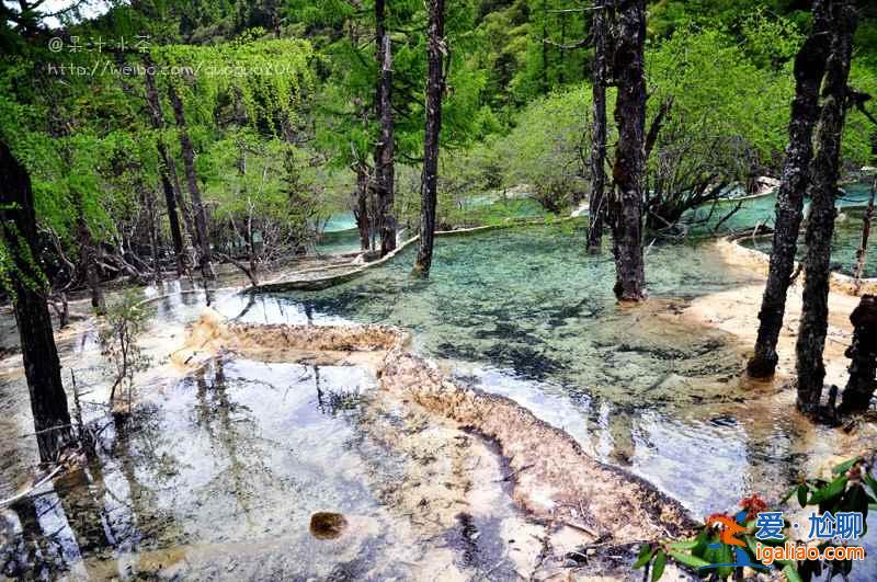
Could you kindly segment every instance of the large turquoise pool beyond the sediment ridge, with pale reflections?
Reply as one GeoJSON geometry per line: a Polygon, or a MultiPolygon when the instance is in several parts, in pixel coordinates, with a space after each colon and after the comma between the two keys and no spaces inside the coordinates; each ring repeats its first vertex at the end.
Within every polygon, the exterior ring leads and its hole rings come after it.
{"type": "MultiPolygon", "coordinates": [[[[584,252],[581,226],[440,238],[428,281],[410,276],[412,263],[408,249],[331,289],[262,295],[242,319],[400,326],[462,381],[519,400],[696,514],[752,491],[778,495],[806,470],[810,429],[782,408],[753,414],[741,346],[679,317],[692,298],[755,282],[709,243],[650,247],[643,309],[616,306],[611,253],[584,252]]],[[[216,306],[235,317],[246,304],[216,306]]]]}

